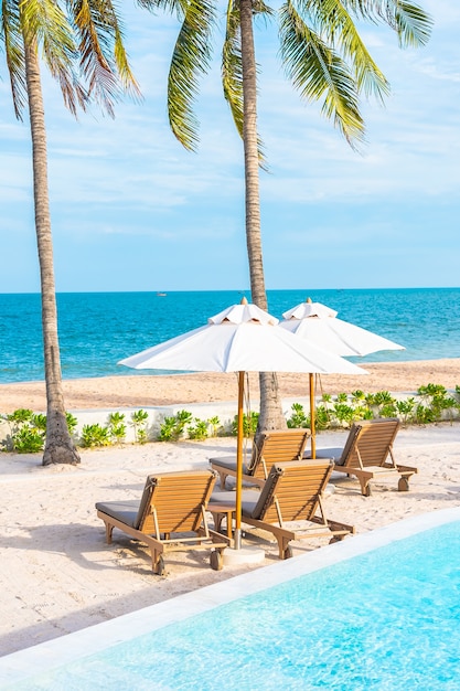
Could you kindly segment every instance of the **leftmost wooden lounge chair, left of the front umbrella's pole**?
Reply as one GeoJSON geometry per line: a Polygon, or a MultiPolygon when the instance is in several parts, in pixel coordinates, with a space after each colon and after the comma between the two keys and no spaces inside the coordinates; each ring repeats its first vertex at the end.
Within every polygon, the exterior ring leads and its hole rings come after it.
{"type": "Polygon", "coordinates": [[[220,571],[222,552],[229,540],[210,530],[205,520],[215,480],[216,475],[210,470],[150,475],[140,501],[99,501],[97,515],[106,525],[107,544],[111,543],[114,528],[146,543],[153,572],[159,575],[164,573],[167,550],[211,549],[211,566],[220,571]]]}

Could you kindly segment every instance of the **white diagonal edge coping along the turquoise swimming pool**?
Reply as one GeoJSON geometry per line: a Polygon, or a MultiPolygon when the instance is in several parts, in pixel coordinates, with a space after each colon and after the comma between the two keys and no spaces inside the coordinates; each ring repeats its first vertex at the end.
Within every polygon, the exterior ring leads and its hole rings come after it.
{"type": "Polygon", "coordinates": [[[325,568],[391,542],[459,520],[460,507],[409,517],[367,533],[354,535],[343,542],[264,566],[263,580],[260,568],[255,568],[108,621],[11,652],[0,658],[0,687],[25,682],[53,668],[63,667],[202,612],[325,568]]]}

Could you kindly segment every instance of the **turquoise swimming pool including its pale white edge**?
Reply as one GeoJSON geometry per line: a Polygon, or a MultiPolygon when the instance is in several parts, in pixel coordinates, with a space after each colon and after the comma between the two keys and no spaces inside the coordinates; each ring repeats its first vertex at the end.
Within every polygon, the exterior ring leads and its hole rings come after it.
{"type": "Polygon", "coordinates": [[[460,509],[451,509],[0,658],[0,682],[457,691],[459,631],[460,509]]]}

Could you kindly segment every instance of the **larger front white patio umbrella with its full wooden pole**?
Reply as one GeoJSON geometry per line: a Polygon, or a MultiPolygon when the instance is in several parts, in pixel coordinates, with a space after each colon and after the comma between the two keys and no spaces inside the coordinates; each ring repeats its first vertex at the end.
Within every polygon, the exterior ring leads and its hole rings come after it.
{"type": "Polygon", "coordinates": [[[143,370],[238,372],[236,549],[240,548],[245,372],[364,373],[351,362],[280,329],[278,321],[243,298],[240,305],[211,317],[207,325],[118,363],[143,370]]]}

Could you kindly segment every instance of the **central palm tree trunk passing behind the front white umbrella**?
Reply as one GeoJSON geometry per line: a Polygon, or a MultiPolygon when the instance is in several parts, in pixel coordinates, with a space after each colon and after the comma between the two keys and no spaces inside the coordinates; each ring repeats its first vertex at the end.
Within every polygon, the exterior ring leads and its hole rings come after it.
{"type": "MultiPolygon", "coordinates": [[[[257,146],[257,68],[254,49],[252,0],[240,0],[242,63],[246,190],[246,243],[249,257],[250,293],[253,302],[268,309],[265,290],[264,263],[260,232],[259,156],[257,146]]],[[[286,418],[278,393],[278,380],[274,372],[260,372],[260,415],[258,432],[282,429],[286,418]]]]}

